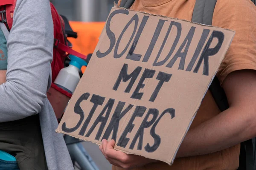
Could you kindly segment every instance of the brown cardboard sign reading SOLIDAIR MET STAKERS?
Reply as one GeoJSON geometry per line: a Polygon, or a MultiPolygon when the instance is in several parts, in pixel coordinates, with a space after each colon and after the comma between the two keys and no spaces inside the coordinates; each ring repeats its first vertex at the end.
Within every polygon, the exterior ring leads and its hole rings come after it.
{"type": "Polygon", "coordinates": [[[172,164],[233,36],[114,6],[56,131],[172,164]]]}

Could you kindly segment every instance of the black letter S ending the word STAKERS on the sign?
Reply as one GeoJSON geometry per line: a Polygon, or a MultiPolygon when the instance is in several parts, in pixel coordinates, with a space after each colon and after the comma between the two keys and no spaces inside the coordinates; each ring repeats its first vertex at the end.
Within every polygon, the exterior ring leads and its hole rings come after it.
{"type": "Polygon", "coordinates": [[[158,122],[160,119],[166,114],[169,113],[171,115],[171,119],[175,117],[175,109],[169,108],[163,111],[163,113],[159,116],[156,122],[154,122],[154,125],[151,127],[150,135],[154,138],[154,144],[152,146],[149,145],[149,143],[145,146],[145,151],[151,153],[157,150],[157,148],[160,146],[161,138],[159,135],[156,134],[155,129],[157,127],[158,122]]]}

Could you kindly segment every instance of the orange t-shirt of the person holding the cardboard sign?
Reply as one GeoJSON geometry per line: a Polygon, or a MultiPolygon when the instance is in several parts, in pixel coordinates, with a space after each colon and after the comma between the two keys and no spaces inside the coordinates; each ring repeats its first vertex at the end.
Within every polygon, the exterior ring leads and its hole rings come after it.
{"type": "MultiPolygon", "coordinates": [[[[196,0],[135,0],[131,9],[167,17],[192,20],[196,0]]],[[[120,5],[119,0],[118,5],[120,5]]],[[[221,83],[232,71],[256,70],[256,6],[250,0],[218,0],[212,25],[236,31],[231,46],[218,70],[221,83]]],[[[209,91],[190,128],[219,114],[209,91]]],[[[216,127],[217,128],[217,127],[216,127]]],[[[164,162],[147,164],[134,170],[236,170],[239,166],[240,144],[219,152],[177,158],[172,166],[164,162]]],[[[122,170],[113,166],[112,170],[122,170]]]]}

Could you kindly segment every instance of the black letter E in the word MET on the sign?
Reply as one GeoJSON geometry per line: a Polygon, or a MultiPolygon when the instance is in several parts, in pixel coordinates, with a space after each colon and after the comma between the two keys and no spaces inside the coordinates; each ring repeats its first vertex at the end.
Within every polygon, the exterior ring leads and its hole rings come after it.
{"type": "Polygon", "coordinates": [[[144,93],[139,93],[141,88],[144,88],[145,84],[143,84],[143,82],[145,81],[145,79],[147,78],[152,78],[154,76],[154,73],[156,71],[155,70],[150,70],[150,69],[145,69],[145,71],[142,74],[142,77],[140,78],[140,81],[136,87],[136,89],[134,90],[133,94],[131,95],[132,99],[141,99],[144,93]]]}

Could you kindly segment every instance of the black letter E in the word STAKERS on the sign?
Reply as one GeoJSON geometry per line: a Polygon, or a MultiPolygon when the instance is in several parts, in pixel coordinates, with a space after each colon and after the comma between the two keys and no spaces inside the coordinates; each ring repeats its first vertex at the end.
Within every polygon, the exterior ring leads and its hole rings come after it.
{"type": "Polygon", "coordinates": [[[133,130],[134,128],[134,119],[136,117],[142,117],[143,114],[145,113],[147,108],[145,108],[144,106],[137,106],[135,108],[135,111],[133,113],[133,115],[131,116],[131,119],[130,121],[128,122],[128,125],[125,127],[125,130],[123,131],[118,143],[117,143],[117,146],[121,146],[121,147],[126,147],[126,145],[128,144],[129,142],[129,138],[126,138],[127,134],[128,133],[131,133],[131,131],[133,130]]]}

